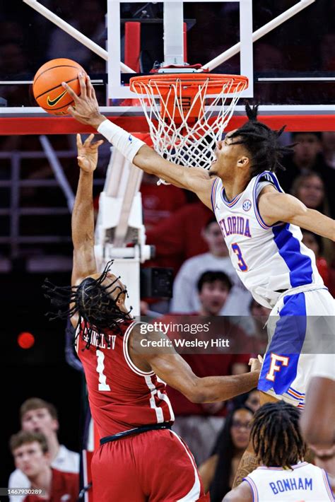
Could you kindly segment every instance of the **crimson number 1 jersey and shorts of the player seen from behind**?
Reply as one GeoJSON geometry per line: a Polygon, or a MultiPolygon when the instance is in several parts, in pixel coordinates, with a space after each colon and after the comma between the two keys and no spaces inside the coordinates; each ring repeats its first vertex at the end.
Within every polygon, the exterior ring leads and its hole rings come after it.
{"type": "Polygon", "coordinates": [[[100,436],[91,465],[94,500],[206,500],[192,453],[168,428],[175,417],[165,383],[153,371],[137,368],[129,356],[129,335],[136,324],[119,320],[122,334],[117,329],[105,337],[93,332],[89,348],[85,335],[77,337],[100,436]]]}

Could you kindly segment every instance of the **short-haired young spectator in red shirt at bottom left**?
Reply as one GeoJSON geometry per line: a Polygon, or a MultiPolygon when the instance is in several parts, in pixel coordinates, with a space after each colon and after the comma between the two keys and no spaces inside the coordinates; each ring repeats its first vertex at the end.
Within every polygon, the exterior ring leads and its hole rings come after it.
{"type": "Polygon", "coordinates": [[[11,436],[10,448],[16,468],[28,478],[29,488],[43,491],[41,496],[28,494],[23,502],[77,501],[79,474],[50,467],[47,439],[42,433],[20,431],[11,436]]]}

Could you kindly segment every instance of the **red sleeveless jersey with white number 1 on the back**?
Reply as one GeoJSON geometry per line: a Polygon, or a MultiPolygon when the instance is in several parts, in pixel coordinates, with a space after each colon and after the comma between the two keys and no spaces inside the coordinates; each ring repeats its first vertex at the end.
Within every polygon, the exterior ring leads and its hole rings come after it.
{"type": "Polygon", "coordinates": [[[110,329],[105,337],[93,332],[89,349],[82,335],[77,337],[76,351],[83,363],[90,411],[100,438],[175,419],[165,383],[153,371],[142,371],[131,361],[128,341],[136,324],[131,319],[120,320],[122,334],[117,329],[110,329]]]}

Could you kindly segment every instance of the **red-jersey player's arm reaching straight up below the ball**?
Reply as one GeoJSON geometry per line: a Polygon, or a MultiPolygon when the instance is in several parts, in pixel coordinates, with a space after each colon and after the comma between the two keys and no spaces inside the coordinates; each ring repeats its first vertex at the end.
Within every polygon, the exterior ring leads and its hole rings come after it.
{"type": "Polygon", "coordinates": [[[93,173],[98,163],[98,148],[103,141],[92,143],[93,138],[94,134],[90,134],[82,143],[80,134],[77,134],[80,173],[71,221],[74,243],[73,285],[97,272],[94,256],[93,173]]]}

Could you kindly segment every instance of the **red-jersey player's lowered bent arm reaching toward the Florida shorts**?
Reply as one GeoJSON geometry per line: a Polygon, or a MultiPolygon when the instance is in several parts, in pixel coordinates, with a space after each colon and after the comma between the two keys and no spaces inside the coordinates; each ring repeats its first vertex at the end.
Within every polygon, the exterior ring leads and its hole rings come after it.
{"type": "Polygon", "coordinates": [[[153,370],[167,385],[182,392],[191,402],[217,402],[231,399],[257,387],[261,365],[257,359],[251,359],[252,371],[242,375],[197,377],[191,367],[177,354],[173,346],[162,349],[146,349],[152,342],[169,340],[164,334],[148,332],[141,334],[139,325],[131,332],[131,358],[142,361],[153,370]],[[148,343],[151,342],[151,343],[148,343]]]}

